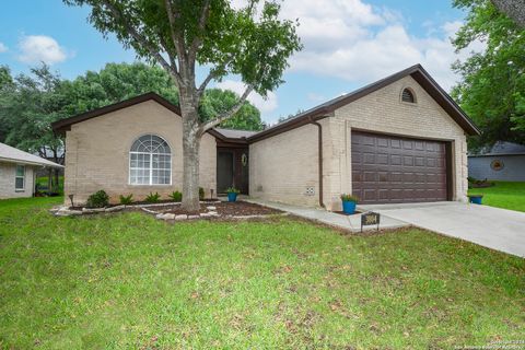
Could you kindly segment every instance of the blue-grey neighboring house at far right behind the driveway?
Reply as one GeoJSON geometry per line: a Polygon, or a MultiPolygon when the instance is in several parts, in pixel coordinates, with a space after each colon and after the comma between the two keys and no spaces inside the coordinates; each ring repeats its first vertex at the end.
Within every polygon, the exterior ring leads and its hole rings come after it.
{"type": "Polygon", "coordinates": [[[525,182],[525,145],[500,141],[489,150],[469,154],[468,175],[476,179],[525,182]]]}

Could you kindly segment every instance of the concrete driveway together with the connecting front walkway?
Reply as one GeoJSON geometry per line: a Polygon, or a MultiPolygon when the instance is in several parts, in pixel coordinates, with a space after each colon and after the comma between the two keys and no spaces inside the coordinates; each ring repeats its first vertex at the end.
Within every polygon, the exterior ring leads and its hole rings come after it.
{"type": "MultiPolygon", "coordinates": [[[[243,200],[290,212],[351,232],[361,231],[361,215],[342,215],[323,209],[289,206],[258,199],[243,200]]],[[[459,202],[358,206],[380,212],[380,229],[418,226],[469,241],[495,250],[525,257],[525,213],[459,202]]],[[[375,230],[376,226],[365,226],[375,230]]]]}

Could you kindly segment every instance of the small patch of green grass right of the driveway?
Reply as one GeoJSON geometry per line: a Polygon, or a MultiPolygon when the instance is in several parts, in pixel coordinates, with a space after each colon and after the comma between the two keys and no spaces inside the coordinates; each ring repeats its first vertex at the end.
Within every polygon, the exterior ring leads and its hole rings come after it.
{"type": "Polygon", "coordinates": [[[469,195],[483,195],[483,205],[525,211],[525,183],[494,182],[495,186],[471,188],[469,195]]]}

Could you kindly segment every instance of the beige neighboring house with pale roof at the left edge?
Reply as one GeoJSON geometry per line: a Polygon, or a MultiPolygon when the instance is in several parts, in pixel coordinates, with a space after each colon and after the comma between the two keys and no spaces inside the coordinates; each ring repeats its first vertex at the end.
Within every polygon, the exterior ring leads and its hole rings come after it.
{"type": "Polygon", "coordinates": [[[63,166],[0,143],[0,199],[32,197],[36,171],[42,167],[63,166]]]}

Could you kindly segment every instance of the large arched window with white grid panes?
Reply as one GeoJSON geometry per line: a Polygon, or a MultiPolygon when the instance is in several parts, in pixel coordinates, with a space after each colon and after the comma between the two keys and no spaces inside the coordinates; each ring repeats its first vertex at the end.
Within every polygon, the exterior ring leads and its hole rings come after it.
{"type": "Polygon", "coordinates": [[[144,135],[133,142],[129,151],[129,183],[172,184],[172,150],[164,139],[144,135]]]}

